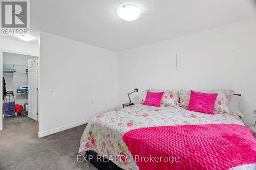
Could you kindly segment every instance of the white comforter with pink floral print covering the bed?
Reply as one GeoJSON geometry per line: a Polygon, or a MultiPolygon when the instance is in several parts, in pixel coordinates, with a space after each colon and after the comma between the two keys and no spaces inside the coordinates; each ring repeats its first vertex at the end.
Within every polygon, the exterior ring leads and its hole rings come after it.
{"type": "MultiPolygon", "coordinates": [[[[137,104],[92,118],[82,134],[79,153],[85,155],[86,151],[92,150],[115,160],[114,163],[123,169],[139,169],[122,140],[126,132],[145,127],[202,124],[244,125],[237,115],[230,113],[216,112],[215,115],[211,115],[187,111],[181,107],[137,104]],[[124,157],[120,155],[124,155],[127,159],[123,159],[124,157]]],[[[246,165],[246,167],[252,166],[246,165]]],[[[239,167],[239,169],[244,168],[245,166],[239,167]]]]}

